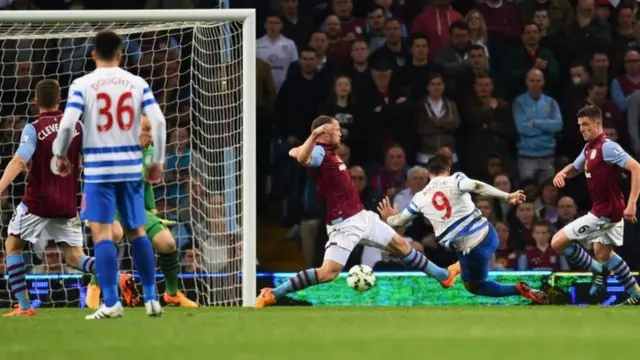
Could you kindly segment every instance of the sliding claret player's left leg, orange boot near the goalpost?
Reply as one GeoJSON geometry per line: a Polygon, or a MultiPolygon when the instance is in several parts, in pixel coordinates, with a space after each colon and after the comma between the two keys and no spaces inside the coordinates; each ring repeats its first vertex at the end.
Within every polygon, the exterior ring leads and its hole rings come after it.
{"type": "MultiPolygon", "coordinates": [[[[337,247],[337,246],[332,246],[337,247]]],[[[329,247],[331,249],[332,247],[329,247]]],[[[340,249],[338,251],[351,253],[351,251],[346,249],[340,249]]],[[[347,254],[348,258],[348,254],[347,254]]],[[[285,295],[306,289],[308,287],[328,283],[333,281],[338,275],[340,271],[344,268],[344,265],[335,262],[333,260],[326,259],[322,262],[322,266],[315,269],[307,269],[298,272],[296,275],[289,278],[289,280],[280,284],[275,289],[272,288],[264,288],[260,291],[260,295],[256,298],[256,308],[264,308],[267,306],[275,305],[277,300],[284,297],[285,295]]]]}

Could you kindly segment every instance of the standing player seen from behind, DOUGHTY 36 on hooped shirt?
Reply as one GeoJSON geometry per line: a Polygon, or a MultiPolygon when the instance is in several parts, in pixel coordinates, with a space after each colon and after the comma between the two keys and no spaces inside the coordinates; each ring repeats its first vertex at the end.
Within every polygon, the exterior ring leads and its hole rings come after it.
{"type": "Polygon", "coordinates": [[[157,183],[163,171],[166,121],[146,81],[119,67],[121,47],[122,39],[114,32],[97,34],[91,54],[96,70],[71,84],[53,146],[57,166],[65,173],[72,130],[84,115],[82,217],[90,223],[104,300],[94,314],[86,317],[88,320],[123,315],[118,295],[118,260],[111,240],[116,210],[131,243],[147,315],[162,313],[155,283],[155,255],[144,230],[142,149],[138,138],[144,112],[153,123],[152,137],[157,148],[147,168],[147,181],[157,183]]]}

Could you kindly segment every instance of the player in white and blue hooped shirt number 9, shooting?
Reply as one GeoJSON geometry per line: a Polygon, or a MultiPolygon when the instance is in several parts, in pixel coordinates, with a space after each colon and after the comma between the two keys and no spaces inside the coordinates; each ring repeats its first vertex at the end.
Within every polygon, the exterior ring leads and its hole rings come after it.
{"type": "Polygon", "coordinates": [[[476,295],[504,297],[522,295],[536,303],[546,301],[545,294],[524,282],[503,285],[488,280],[489,262],[498,248],[498,235],[493,225],[476,209],[470,193],[507,200],[519,204],[526,198],[522,191],[511,194],[462,173],[451,175],[447,157],[436,155],[427,163],[429,184],[414,197],[400,214],[385,199],[381,215],[393,227],[403,227],[422,214],[434,228],[436,240],[455,251],[465,288],[476,295]]]}

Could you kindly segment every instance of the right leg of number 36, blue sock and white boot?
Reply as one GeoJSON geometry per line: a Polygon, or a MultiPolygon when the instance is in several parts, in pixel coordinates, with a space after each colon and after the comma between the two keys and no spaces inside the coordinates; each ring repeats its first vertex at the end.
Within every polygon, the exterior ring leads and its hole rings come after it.
{"type": "Polygon", "coordinates": [[[133,262],[142,283],[144,306],[147,315],[152,317],[161,316],[163,311],[158,301],[156,288],[156,257],[144,226],[127,231],[127,239],[130,241],[133,262]]]}

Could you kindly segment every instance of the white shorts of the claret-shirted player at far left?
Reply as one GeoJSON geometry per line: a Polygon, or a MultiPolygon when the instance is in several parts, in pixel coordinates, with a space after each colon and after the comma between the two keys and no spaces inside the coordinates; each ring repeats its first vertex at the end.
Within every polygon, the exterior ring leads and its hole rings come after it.
{"type": "Polygon", "coordinates": [[[44,248],[46,242],[67,243],[71,247],[82,247],[82,228],[75,219],[46,219],[29,214],[20,204],[9,222],[9,235],[18,236],[36,246],[44,248]]]}

